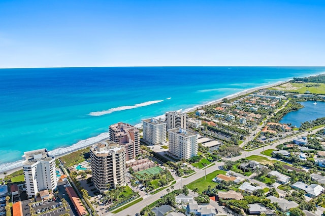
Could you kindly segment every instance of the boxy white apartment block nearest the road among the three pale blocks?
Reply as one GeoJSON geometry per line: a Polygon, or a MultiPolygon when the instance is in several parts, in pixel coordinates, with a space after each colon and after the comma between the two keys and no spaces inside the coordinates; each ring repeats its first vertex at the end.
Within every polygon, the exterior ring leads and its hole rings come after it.
{"type": "Polygon", "coordinates": [[[189,129],[168,129],[169,152],[178,158],[188,159],[198,154],[198,133],[189,129]]]}

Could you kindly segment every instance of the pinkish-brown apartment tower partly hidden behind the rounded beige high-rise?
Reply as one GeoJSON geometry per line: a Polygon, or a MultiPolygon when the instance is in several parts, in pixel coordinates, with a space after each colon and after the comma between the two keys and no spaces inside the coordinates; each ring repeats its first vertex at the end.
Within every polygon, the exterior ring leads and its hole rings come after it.
{"type": "Polygon", "coordinates": [[[118,122],[109,127],[110,140],[125,148],[126,160],[135,159],[140,151],[140,131],[131,124],[118,122]]]}

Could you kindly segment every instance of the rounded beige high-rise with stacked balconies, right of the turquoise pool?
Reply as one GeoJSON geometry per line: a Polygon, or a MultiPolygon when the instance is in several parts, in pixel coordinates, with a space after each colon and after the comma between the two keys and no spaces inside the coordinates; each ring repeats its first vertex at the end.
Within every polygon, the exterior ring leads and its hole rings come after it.
{"type": "Polygon", "coordinates": [[[112,141],[90,147],[90,166],[94,186],[101,192],[126,185],[126,153],[112,141]]]}

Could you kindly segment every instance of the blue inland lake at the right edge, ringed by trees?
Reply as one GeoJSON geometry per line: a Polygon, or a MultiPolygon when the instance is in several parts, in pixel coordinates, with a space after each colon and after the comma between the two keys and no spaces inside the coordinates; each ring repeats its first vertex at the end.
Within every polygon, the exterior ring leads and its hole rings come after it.
{"type": "Polygon", "coordinates": [[[304,108],[297,111],[289,112],[282,119],[281,123],[291,123],[300,127],[302,122],[315,120],[317,118],[325,117],[325,102],[317,101],[305,101],[301,102],[304,108]]]}

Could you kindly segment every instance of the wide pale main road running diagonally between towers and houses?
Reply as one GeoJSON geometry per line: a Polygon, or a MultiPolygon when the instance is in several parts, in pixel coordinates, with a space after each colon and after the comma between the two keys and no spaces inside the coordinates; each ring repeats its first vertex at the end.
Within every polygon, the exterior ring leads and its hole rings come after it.
{"type": "MultiPolygon", "coordinates": [[[[320,129],[323,129],[324,127],[320,127],[320,128],[317,128],[313,131],[310,131],[309,134],[314,134],[316,133],[317,131],[319,131],[320,129]]],[[[308,132],[306,133],[303,133],[301,136],[307,136],[308,135],[308,132]]],[[[264,147],[264,150],[267,150],[267,149],[274,149],[276,145],[279,145],[279,144],[283,144],[284,142],[287,142],[288,140],[291,141],[293,140],[294,138],[296,137],[293,137],[293,138],[288,138],[288,139],[283,139],[283,140],[280,140],[276,143],[274,143],[273,145],[269,145],[269,146],[265,146],[264,147]]],[[[249,155],[261,155],[263,157],[268,157],[268,156],[265,156],[265,155],[262,155],[261,152],[263,151],[263,148],[259,148],[259,149],[255,149],[253,151],[250,151],[250,152],[242,152],[242,154],[240,156],[237,156],[237,157],[233,157],[232,160],[233,161],[236,161],[236,160],[239,160],[241,158],[244,158],[244,157],[248,157],[249,155]]],[[[272,158],[273,160],[275,160],[275,158],[272,158]]],[[[231,158],[225,158],[225,160],[231,160],[231,158]]],[[[210,174],[211,172],[215,171],[218,169],[218,166],[220,165],[223,165],[224,162],[215,162],[215,165],[213,166],[210,166],[207,168],[206,170],[206,173],[207,174],[210,174]]],[[[176,184],[174,185],[174,188],[175,189],[179,189],[181,188],[181,185],[187,185],[199,178],[202,178],[204,177],[204,173],[205,173],[205,170],[201,170],[201,169],[197,169],[197,168],[194,168],[194,170],[197,171],[196,174],[194,174],[193,176],[190,176],[186,179],[178,179],[176,180],[176,184]]],[[[256,180],[254,180],[256,181],[256,180]]],[[[261,184],[261,182],[258,182],[258,184],[261,184]]],[[[169,188],[170,189],[170,188],[169,188]]],[[[278,190],[277,190],[278,191],[278,190]]],[[[281,190],[279,190],[278,192],[280,192],[281,190]]],[[[282,192],[282,191],[281,191],[282,192]]],[[[145,195],[143,196],[143,200],[141,202],[138,202],[137,204],[133,205],[132,207],[129,207],[127,209],[124,209],[116,214],[108,214],[108,215],[116,215],[116,216],[125,216],[125,215],[135,215],[137,212],[140,212],[140,210],[142,208],[144,208],[146,205],[149,205],[151,204],[152,202],[158,200],[161,196],[163,196],[164,194],[167,194],[167,189],[165,190],[162,190],[156,194],[153,194],[153,195],[145,195]]]]}

